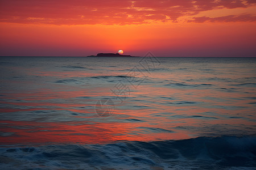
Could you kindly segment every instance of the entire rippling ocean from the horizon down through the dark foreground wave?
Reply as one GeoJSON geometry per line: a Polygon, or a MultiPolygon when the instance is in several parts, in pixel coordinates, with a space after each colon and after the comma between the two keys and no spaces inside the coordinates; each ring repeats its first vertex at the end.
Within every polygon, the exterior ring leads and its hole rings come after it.
{"type": "Polygon", "coordinates": [[[0,169],[256,169],[256,58],[0,57],[0,169]]]}

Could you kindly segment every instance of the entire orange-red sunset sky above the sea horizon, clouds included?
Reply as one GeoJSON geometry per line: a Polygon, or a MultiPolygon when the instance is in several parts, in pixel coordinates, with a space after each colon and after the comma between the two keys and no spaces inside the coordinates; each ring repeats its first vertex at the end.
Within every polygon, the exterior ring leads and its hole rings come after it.
{"type": "Polygon", "coordinates": [[[0,56],[256,57],[256,0],[0,0],[0,56]]]}

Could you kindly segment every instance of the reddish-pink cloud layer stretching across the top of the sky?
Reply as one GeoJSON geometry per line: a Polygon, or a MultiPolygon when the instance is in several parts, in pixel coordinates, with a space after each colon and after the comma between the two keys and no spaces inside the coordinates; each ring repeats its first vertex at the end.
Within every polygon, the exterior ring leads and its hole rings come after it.
{"type": "MultiPolygon", "coordinates": [[[[246,8],[255,0],[2,0],[0,22],[43,24],[142,24],[154,21],[177,22],[181,16],[193,16],[216,8],[246,8]]],[[[197,17],[188,22],[254,21],[243,16],[229,15],[211,19],[197,17]],[[245,18],[241,20],[240,17],[245,18]],[[231,19],[231,20],[228,20],[231,19]]]]}

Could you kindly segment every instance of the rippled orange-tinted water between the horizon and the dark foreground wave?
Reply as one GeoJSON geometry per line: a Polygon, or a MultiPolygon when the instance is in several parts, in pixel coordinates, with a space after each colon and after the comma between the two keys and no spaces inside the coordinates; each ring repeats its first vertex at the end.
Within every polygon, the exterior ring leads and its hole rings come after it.
{"type": "Polygon", "coordinates": [[[158,58],[133,86],[127,73],[139,59],[1,57],[1,143],[255,134],[255,58],[158,58]],[[118,82],[130,89],[119,103],[118,82]],[[95,112],[101,99],[115,102],[111,116],[95,112]]]}

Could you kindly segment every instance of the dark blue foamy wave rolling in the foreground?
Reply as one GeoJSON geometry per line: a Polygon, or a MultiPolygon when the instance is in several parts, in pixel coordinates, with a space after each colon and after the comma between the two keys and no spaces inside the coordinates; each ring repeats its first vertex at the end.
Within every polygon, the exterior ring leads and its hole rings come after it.
{"type": "Polygon", "coordinates": [[[256,137],[1,146],[1,169],[254,169],[256,137]]]}

